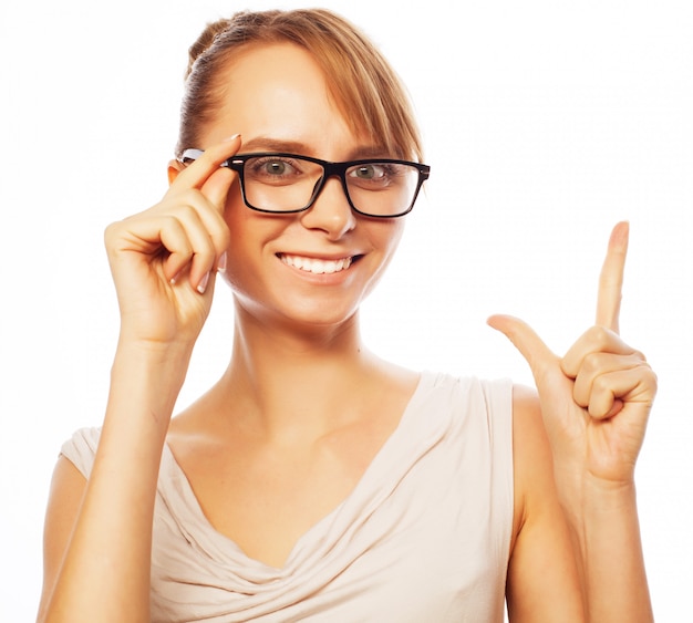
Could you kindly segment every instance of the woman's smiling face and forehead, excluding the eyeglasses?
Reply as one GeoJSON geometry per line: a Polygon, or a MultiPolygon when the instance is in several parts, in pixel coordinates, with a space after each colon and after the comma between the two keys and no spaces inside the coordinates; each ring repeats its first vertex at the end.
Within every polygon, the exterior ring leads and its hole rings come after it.
{"type": "MultiPolygon", "coordinates": [[[[310,54],[291,43],[250,46],[226,70],[225,105],[201,148],[240,133],[240,153],[286,152],[325,160],[390,156],[354,135],[332,104],[310,54]]],[[[380,279],[404,221],[353,212],[339,178],[302,212],[245,206],[238,181],[226,221],[226,279],[242,310],[262,322],[333,325],[351,319],[380,279]],[[325,269],[329,272],[325,272],[325,269]]]]}

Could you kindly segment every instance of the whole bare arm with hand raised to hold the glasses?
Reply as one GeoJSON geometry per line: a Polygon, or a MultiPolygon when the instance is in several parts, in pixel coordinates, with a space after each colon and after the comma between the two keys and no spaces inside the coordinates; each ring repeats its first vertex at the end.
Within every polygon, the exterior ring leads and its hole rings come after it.
{"type": "Polygon", "coordinates": [[[39,621],[149,621],[162,449],[229,245],[236,174],[219,165],[239,145],[234,137],[187,167],[172,164],[159,204],[106,228],[121,341],[89,482],[65,458],[55,468],[39,621]]]}

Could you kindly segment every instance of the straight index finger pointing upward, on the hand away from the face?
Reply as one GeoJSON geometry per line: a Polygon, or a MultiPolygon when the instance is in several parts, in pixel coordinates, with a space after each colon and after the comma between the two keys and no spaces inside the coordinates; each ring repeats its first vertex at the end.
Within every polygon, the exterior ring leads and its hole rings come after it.
{"type": "Polygon", "coordinates": [[[628,251],[629,224],[617,224],[609,238],[607,257],[599,276],[597,295],[597,324],[606,326],[614,333],[619,332],[619,313],[621,311],[621,291],[623,271],[628,251]]]}

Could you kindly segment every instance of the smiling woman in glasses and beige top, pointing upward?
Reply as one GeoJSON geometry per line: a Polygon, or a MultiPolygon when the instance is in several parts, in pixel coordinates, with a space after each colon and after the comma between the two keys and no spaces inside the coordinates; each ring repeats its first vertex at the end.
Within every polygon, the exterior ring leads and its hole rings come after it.
{"type": "Polygon", "coordinates": [[[190,54],[169,190],[106,230],[111,393],[55,468],[39,620],[651,620],[627,226],[565,357],[492,319],[538,398],[404,370],[359,335],[428,173],[392,70],[325,11],[238,14],[190,54]],[[217,273],[230,363],[172,419],[217,273]]]}

